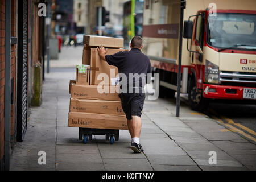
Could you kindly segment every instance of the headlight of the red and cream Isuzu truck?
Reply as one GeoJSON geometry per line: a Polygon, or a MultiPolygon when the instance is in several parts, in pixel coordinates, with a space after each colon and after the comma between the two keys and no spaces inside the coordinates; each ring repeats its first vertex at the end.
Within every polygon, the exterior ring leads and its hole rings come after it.
{"type": "Polygon", "coordinates": [[[205,60],[205,82],[210,84],[218,84],[218,73],[218,66],[208,60],[205,60]]]}

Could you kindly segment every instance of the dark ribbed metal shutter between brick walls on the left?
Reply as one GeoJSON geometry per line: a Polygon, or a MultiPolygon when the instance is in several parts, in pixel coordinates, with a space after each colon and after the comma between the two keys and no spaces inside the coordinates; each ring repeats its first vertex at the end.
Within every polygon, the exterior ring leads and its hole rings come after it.
{"type": "Polygon", "coordinates": [[[28,3],[18,1],[17,141],[27,130],[28,3]]]}

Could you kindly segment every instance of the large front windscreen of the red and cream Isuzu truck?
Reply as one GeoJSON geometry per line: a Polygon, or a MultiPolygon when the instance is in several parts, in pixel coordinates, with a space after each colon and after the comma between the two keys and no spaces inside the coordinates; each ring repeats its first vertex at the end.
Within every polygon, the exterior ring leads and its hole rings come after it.
{"type": "Polygon", "coordinates": [[[207,42],[217,48],[255,50],[256,15],[217,13],[216,16],[208,16],[207,42]]]}

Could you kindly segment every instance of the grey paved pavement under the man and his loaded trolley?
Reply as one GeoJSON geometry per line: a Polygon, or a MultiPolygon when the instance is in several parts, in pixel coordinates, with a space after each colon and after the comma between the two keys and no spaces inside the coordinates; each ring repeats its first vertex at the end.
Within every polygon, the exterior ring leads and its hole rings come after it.
{"type": "Polygon", "coordinates": [[[227,130],[221,122],[192,111],[181,102],[146,100],[142,114],[141,144],[144,154],[130,150],[130,135],[121,130],[119,141],[110,145],[104,136],[83,144],[78,129],[68,128],[69,80],[81,63],[82,48],[65,48],[52,61],[43,84],[42,105],[32,107],[27,132],[11,155],[11,170],[85,171],[200,171],[255,170],[256,146],[227,130]],[[61,66],[62,65],[62,66],[61,66]],[[46,164],[39,151],[46,154],[46,164]],[[213,154],[212,155],[209,155],[213,154]],[[213,157],[216,156],[216,163],[213,157]]]}

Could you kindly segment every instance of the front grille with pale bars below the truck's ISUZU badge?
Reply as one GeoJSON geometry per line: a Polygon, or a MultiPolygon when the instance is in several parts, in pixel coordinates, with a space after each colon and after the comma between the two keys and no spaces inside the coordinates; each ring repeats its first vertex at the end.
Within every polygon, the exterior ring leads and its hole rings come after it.
{"type": "Polygon", "coordinates": [[[256,84],[256,73],[221,71],[220,82],[256,84]]]}

